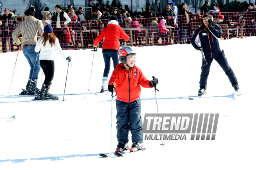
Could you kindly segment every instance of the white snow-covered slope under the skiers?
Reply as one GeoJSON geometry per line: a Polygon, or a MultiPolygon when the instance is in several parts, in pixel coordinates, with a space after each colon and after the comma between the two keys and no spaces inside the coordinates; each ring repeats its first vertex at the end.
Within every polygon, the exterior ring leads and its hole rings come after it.
{"type": "MultiPolygon", "coordinates": [[[[59,101],[29,101],[19,96],[28,81],[29,65],[19,52],[1,53],[0,117],[16,115],[12,122],[0,118],[0,170],[45,169],[255,169],[256,160],[256,37],[221,40],[230,67],[239,81],[235,97],[227,76],[214,61],[207,94],[197,96],[201,52],[192,45],[136,47],[136,65],[147,79],[159,79],[159,113],[220,113],[215,140],[144,140],[142,153],[100,158],[110,151],[111,95],[99,94],[104,70],[102,50],[68,50],[66,101],[62,102],[67,60],[56,54],[55,75],[50,93],[59,101]],[[97,95],[95,95],[97,93],[97,95]],[[29,102],[26,102],[29,101],[29,102]]],[[[112,65],[112,63],[111,63],[112,65]]],[[[109,77],[113,68],[111,68],[109,77]]],[[[42,70],[39,73],[40,88],[42,70]]],[[[154,89],[142,88],[142,119],[157,113],[154,89]]],[[[116,148],[116,109],[113,103],[112,151],[116,148]]],[[[130,137],[130,136],[129,136],[130,137]]],[[[131,146],[131,138],[129,145],[131,146]]]]}

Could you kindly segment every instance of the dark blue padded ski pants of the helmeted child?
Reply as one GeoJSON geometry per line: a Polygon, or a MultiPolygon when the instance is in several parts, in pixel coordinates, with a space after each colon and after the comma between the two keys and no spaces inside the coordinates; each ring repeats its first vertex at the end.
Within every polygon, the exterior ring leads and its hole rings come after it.
{"type": "Polygon", "coordinates": [[[131,131],[131,141],[143,142],[142,134],[142,118],[140,116],[141,103],[140,99],[131,103],[125,103],[124,101],[116,100],[116,137],[118,142],[128,143],[128,134],[131,131]]]}

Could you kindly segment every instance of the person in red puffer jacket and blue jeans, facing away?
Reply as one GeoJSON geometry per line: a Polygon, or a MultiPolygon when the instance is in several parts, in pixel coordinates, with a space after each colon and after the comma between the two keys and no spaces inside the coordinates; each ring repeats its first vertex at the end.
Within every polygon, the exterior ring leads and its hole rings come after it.
{"type": "Polygon", "coordinates": [[[102,77],[102,86],[100,93],[107,90],[107,81],[109,77],[110,70],[110,58],[112,58],[114,69],[116,65],[119,64],[118,50],[119,50],[119,39],[120,36],[128,41],[130,37],[123,31],[123,29],[118,26],[118,19],[115,15],[110,17],[110,21],[107,26],[101,31],[99,36],[95,38],[93,42],[93,47],[97,47],[99,42],[105,37],[104,43],[102,45],[102,53],[105,62],[105,69],[102,77]]]}

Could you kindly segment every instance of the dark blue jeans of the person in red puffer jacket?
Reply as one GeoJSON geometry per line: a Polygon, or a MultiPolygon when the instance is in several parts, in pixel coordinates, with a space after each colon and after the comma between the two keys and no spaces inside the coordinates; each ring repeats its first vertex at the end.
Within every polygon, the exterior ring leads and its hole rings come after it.
{"type": "Polygon", "coordinates": [[[116,68],[116,65],[119,64],[119,58],[118,58],[118,51],[116,52],[103,52],[103,58],[105,62],[105,69],[103,73],[103,77],[109,77],[109,70],[110,70],[110,58],[112,58],[114,69],[116,68]]]}

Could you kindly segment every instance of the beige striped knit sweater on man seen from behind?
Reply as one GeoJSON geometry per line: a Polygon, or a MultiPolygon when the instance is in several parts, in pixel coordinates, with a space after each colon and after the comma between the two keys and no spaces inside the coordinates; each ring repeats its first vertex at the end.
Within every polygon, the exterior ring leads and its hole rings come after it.
{"type": "Polygon", "coordinates": [[[35,17],[29,15],[26,17],[25,21],[21,22],[15,31],[12,33],[12,38],[17,45],[21,44],[19,41],[19,34],[22,35],[22,43],[33,44],[37,43],[37,33],[43,35],[43,23],[41,20],[36,19],[35,17]]]}

